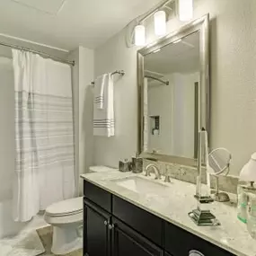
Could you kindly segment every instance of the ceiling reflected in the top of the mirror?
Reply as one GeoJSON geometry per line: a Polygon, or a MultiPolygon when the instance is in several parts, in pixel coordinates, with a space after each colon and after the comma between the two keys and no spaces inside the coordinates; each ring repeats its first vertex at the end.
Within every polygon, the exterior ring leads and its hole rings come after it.
{"type": "Polygon", "coordinates": [[[163,75],[199,71],[199,32],[145,57],[145,69],[163,75]]]}

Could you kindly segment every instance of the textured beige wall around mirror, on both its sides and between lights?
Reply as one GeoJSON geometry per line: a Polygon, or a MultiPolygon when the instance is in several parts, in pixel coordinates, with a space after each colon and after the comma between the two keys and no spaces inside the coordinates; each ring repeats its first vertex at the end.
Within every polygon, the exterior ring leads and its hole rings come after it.
{"type": "MultiPolygon", "coordinates": [[[[195,0],[194,17],[210,13],[211,19],[211,146],[232,152],[233,174],[256,151],[255,10],[255,0],[195,0]]],[[[168,31],[179,26],[172,20],[168,31]]],[[[95,75],[126,71],[115,84],[117,136],[95,138],[94,162],[110,166],[137,150],[137,49],[126,47],[125,35],[120,31],[95,52],[95,75]]]]}

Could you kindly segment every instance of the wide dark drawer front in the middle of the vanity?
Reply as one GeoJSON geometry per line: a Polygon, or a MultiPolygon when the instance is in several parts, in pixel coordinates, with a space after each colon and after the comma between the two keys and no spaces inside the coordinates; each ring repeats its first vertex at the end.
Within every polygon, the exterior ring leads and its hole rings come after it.
{"type": "Polygon", "coordinates": [[[145,210],[113,196],[113,215],[156,243],[163,246],[163,220],[145,210]]]}

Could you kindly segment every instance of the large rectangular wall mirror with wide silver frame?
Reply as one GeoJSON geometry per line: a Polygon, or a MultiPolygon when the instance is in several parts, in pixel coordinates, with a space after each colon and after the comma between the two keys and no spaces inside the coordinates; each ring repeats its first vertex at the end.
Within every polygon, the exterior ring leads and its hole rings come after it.
{"type": "Polygon", "coordinates": [[[209,133],[209,16],[137,52],[138,151],[196,165],[198,133],[209,133]]]}

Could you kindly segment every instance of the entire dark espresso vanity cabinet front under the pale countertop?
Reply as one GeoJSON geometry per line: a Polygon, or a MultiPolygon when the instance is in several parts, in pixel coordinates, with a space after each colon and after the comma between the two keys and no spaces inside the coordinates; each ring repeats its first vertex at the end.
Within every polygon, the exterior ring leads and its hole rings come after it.
{"type": "Polygon", "coordinates": [[[84,256],[234,256],[84,181],[84,256]]]}

